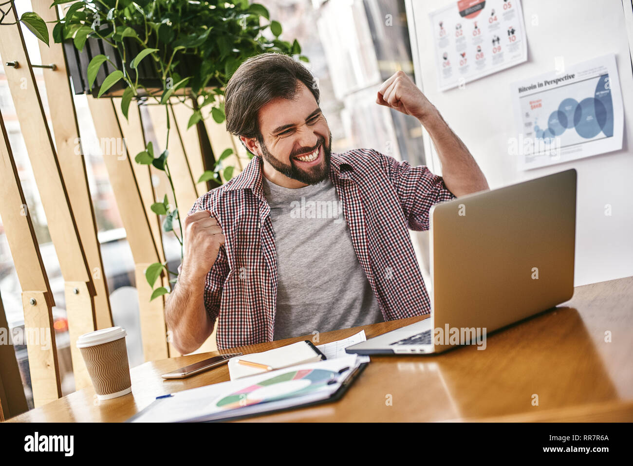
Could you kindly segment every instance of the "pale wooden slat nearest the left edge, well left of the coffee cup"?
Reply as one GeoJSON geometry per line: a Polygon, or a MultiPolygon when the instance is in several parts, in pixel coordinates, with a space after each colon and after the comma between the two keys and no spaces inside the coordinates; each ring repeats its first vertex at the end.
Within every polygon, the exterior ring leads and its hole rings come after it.
{"type": "MultiPolygon", "coordinates": [[[[25,331],[35,331],[44,336],[44,341],[39,339],[26,342],[33,402],[37,407],[61,397],[51,311],[55,301],[44,270],[1,113],[0,129],[0,217],[22,287],[25,331]]],[[[8,348],[13,351],[13,347],[8,348]]],[[[15,371],[13,372],[11,377],[15,376],[15,371]]]]}

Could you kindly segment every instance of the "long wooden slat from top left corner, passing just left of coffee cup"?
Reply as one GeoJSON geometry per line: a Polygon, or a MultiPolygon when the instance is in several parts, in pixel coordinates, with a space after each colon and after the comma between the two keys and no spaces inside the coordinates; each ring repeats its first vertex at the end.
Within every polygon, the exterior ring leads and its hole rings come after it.
{"type": "MultiPolygon", "coordinates": [[[[6,15],[7,22],[15,22],[15,5],[6,15]]],[[[87,377],[84,359],[74,342],[77,337],[96,329],[94,300],[96,294],[84,249],[68,199],[68,192],[60,170],[60,163],[53,145],[51,132],[44,116],[42,100],[35,84],[35,77],[22,36],[20,23],[3,27],[0,41],[0,56],[6,61],[17,61],[17,67],[5,66],[13,104],[20,121],[20,129],[31,160],[35,182],[40,192],[42,206],[46,213],[48,230],[53,239],[65,282],[84,283],[89,299],[75,294],[66,294],[68,313],[68,333],[72,354],[75,386],[77,389],[91,384],[87,377]],[[80,301],[76,305],[72,301],[80,301]],[[85,304],[89,303],[89,307],[85,304]],[[70,304],[70,305],[69,305],[70,304]]],[[[50,71],[50,70],[47,70],[50,71]]],[[[51,89],[50,92],[56,90],[51,89]]],[[[63,109],[67,111],[67,109],[63,109]]],[[[61,116],[67,118],[67,116],[61,116]]],[[[74,288],[73,288],[74,289],[74,288]]],[[[39,306],[39,305],[38,305],[39,306]]]]}

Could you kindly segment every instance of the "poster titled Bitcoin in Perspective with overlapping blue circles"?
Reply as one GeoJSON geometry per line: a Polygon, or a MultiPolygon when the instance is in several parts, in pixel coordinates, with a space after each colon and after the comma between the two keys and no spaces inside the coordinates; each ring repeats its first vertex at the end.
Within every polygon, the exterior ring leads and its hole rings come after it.
{"type": "Polygon", "coordinates": [[[556,68],[511,84],[518,139],[510,153],[520,170],[622,149],[615,54],[556,68]]]}

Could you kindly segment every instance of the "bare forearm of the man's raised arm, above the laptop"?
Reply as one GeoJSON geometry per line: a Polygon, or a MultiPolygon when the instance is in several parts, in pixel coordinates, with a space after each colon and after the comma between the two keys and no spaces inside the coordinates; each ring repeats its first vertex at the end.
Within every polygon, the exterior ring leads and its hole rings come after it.
{"type": "Polygon", "coordinates": [[[450,129],[435,107],[420,123],[429,132],[442,164],[442,178],[457,197],[490,189],[484,173],[461,139],[450,129]]]}

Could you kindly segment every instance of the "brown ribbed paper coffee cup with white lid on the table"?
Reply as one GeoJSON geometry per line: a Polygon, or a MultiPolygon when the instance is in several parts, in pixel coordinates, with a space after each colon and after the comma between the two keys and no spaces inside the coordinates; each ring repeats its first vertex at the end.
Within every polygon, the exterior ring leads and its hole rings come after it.
{"type": "Polygon", "coordinates": [[[89,332],[77,339],[77,348],[84,356],[99,400],[110,400],[132,391],[125,335],[121,327],[110,327],[89,332]]]}

